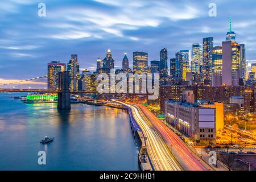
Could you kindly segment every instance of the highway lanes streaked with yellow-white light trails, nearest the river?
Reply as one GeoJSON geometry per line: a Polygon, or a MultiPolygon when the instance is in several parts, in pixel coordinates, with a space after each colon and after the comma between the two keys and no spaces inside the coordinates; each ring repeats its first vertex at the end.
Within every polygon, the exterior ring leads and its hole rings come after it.
{"type": "MultiPolygon", "coordinates": [[[[116,101],[119,102],[119,101],[116,101]]],[[[146,138],[147,154],[151,160],[152,166],[156,171],[182,171],[184,170],[179,162],[172,155],[170,148],[164,139],[158,133],[152,123],[142,113],[137,105],[125,104],[131,108],[134,119],[141,127],[144,137],[146,138]]]]}

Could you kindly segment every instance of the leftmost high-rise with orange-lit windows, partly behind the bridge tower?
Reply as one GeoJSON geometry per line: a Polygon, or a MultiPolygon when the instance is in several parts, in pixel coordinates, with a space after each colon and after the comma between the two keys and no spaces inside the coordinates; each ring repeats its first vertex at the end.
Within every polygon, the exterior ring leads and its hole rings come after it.
{"type": "Polygon", "coordinates": [[[66,71],[66,64],[60,61],[48,63],[47,86],[49,90],[57,90],[59,83],[59,72],[66,71]]]}

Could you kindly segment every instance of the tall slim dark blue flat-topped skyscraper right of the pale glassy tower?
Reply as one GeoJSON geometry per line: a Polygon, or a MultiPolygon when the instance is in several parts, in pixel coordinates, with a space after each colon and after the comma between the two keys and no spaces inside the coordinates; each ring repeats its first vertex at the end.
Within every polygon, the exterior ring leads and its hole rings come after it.
{"type": "Polygon", "coordinates": [[[212,80],[212,49],[213,37],[203,39],[203,82],[210,85],[212,80]]]}

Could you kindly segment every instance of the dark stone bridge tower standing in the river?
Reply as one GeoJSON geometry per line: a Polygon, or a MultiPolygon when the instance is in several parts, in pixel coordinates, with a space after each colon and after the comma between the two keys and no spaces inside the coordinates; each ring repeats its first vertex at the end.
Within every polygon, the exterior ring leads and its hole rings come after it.
{"type": "Polygon", "coordinates": [[[59,72],[58,109],[71,109],[69,72],[59,72]]]}

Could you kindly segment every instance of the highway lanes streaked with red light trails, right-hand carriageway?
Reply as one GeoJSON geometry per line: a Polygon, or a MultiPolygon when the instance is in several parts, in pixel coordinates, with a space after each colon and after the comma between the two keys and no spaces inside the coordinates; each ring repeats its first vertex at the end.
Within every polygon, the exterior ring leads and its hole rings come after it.
{"type": "Polygon", "coordinates": [[[167,145],[171,148],[172,154],[186,171],[208,171],[210,167],[194,154],[188,146],[169,127],[164,125],[145,106],[137,105],[140,110],[151,121],[154,128],[160,133],[167,145]]]}

